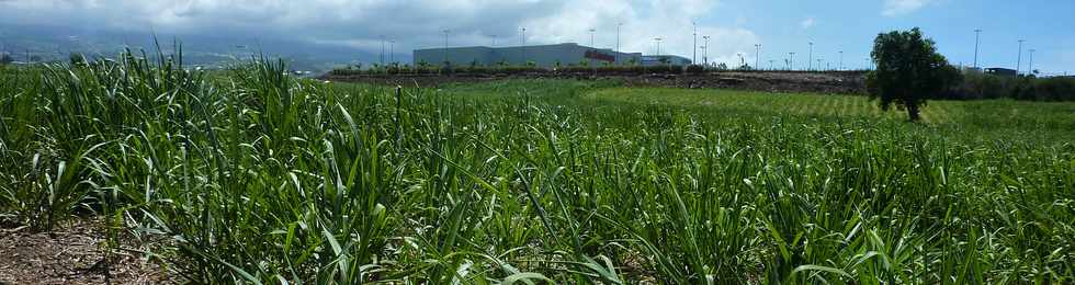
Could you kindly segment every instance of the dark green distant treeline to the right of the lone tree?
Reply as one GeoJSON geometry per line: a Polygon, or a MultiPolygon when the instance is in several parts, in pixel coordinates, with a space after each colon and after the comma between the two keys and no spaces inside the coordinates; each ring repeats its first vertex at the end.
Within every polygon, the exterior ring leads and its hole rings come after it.
{"type": "Polygon", "coordinates": [[[1075,77],[1037,78],[964,72],[962,80],[935,99],[1014,99],[1027,101],[1075,101],[1075,77]]]}

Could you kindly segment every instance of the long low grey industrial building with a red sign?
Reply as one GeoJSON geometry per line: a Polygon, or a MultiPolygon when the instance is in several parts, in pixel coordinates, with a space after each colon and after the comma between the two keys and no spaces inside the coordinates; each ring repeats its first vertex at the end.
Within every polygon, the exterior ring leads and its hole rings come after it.
{"type": "Polygon", "coordinates": [[[415,64],[426,62],[451,66],[496,66],[500,64],[522,66],[534,62],[539,67],[552,68],[587,62],[590,66],[603,65],[659,65],[665,58],[668,65],[683,64],[686,58],[678,56],[642,56],[641,53],[616,53],[608,48],[581,46],[575,43],[557,45],[511,46],[511,47],[449,47],[415,49],[415,64]]]}

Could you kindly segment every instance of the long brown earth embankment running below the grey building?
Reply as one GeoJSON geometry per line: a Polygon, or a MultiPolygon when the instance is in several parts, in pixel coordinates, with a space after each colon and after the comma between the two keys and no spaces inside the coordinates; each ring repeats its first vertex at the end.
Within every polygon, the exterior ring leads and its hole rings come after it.
{"type": "Polygon", "coordinates": [[[364,82],[404,87],[438,87],[446,83],[475,83],[505,79],[612,79],[627,87],[669,87],[735,89],[765,92],[813,92],[837,94],[865,93],[863,72],[713,72],[705,75],[613,75],[534,73],[534,75],[357,75],[322,76],[320,79],[341,82],[364,82]]]}

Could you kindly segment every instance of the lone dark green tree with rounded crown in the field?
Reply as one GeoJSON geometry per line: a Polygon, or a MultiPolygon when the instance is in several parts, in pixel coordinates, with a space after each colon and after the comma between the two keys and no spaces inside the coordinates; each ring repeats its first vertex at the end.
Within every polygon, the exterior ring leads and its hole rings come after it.
{"type": "Polygon", "coordinates": [[[870,56],[876,64],[867,76],[870,98],[880,99],[882,110],[892,105],[906,110],[913,122],[921,118],[927,98],[940,95],[961,78],[918,27],[879,34],[870,56]]]}

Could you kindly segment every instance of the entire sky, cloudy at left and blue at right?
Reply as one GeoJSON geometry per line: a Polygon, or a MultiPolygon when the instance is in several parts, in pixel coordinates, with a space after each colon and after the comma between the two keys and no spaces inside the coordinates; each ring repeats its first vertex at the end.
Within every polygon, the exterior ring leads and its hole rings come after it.
{"type": "Polygon", "coordinates": [[[736,66],[811,65],[862,68],[878,33],[921,27],[953,65],[1075,73],[1072,0],[0,0],[4,25],[52,25],[182,38],[291,38],[380,53],[444,45],[574,42],[624,52],[663,54],[736,66]],[[621,24],[622,25],[619,25],[621,24]],[[697,31],[698,44],[694,44],[697,31]],[[703,36],[709,36],[706,50],[703,36]],[[813,53],[810,44],[813,45],[813,53]],[[761,45],[760,57],[756,59],[761,45]],[[698,46],[695,48],[695,46],[698,46]],[[697,52],[695,52],[697,50],[697,52]],[[697,54],[695,54],[697,53],[697,54]],[[739,59],[739,55],[743,59],[739,59]]]}

